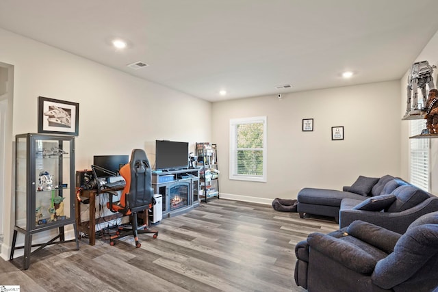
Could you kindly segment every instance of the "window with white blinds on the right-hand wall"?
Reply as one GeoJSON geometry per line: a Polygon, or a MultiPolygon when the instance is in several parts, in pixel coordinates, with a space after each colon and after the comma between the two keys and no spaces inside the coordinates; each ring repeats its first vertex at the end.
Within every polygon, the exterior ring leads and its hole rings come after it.
{"type": "MultiPolygon", "coordinates": [[[[426,120],[411,120],[411,136],[426,128],[426,120]]],[[[409,139],[410,183],[428,191],[429,189],[429,140],[409,139]]]]}

